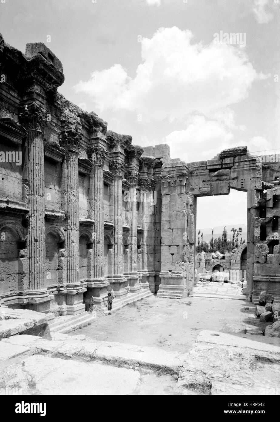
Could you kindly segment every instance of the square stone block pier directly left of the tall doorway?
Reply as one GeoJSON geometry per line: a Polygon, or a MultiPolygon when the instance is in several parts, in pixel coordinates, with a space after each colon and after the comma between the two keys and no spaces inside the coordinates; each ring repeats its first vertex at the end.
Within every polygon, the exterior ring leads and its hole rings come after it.
{"type": "MultiPolygon", "coordinates": [[[[188,246],[188,195],[186,194],[187,167],[162,169],[162,266],[159,297],[184,298],[188,295],[191,271],[188,246]]],[[[194,271],[194,270],[193,270],[194,271]]]]}

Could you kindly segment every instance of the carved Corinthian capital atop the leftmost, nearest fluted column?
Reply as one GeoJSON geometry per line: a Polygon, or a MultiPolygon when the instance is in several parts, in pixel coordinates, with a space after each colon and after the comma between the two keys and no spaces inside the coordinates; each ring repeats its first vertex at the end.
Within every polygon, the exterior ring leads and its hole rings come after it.
{"type": "Polygon", "coordinates": [[[35,102],[29,105],[25,104],[19,114],[19,120],[25,129],[42,132],[47,123],[47,112],[35,102]]]}

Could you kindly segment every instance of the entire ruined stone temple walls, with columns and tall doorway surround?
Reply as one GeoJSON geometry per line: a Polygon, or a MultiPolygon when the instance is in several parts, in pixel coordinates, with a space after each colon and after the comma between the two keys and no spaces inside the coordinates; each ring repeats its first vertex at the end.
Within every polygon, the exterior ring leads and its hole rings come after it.
{"type": "Polygon", "coordinates": [[[279,162],[239,147],[185,163],[132,144],[57,92],[62,64],[43,43],[22,54],[0,35],[0,65],[2,306],[75,315],[108,291],[120,304],[192,294],[197,197],[231,188],[248,196],[248,300],[280,302],[279,162]]]}

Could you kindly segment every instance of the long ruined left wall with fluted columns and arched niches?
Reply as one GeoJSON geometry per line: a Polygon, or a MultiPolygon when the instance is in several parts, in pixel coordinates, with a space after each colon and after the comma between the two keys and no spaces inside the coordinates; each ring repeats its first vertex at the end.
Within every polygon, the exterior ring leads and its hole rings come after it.
{"type": "Polygon", "coordinates": [[[0,35],[0,62],[0,298],[75,315],[92,298],[105,306],[108,290],[120,301],[155,291],[160,209],[156,222],[134,194],[151,198],[162,163],[57,92],[62,64],[43,43],[23,54],[0,35]]]}

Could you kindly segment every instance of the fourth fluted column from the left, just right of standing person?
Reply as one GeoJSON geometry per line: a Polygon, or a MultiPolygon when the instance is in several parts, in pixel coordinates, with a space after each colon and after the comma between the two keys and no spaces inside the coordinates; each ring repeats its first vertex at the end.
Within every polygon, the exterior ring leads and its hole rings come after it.
{"type": "Polygon", "coordinates": [[[109,162],[110,172],[114,176],[114,265],[113,280],[110,281],[111,287],[116,298],[124,298],[127,295],[125,289],[126,279],[123,273],[123,227],[122,227],[122,178],[125,164],[116,160],[109,162]]]}

